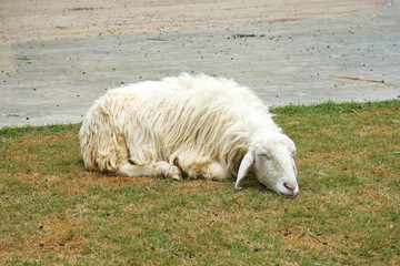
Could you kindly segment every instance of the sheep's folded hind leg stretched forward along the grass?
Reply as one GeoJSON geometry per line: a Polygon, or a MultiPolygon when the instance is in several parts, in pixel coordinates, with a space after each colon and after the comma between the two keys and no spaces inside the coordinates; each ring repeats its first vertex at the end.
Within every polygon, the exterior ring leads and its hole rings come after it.
{"type": "Polygon", "coordinates": [[[164,176],[173,180],[180,180],[181,174],[177,166],[171,165],[167,162],[154,162],[149,164],[133,165],[129,162],[124,163],[120,167],[122,174],[130,177],[140,176],[164,176]]]}

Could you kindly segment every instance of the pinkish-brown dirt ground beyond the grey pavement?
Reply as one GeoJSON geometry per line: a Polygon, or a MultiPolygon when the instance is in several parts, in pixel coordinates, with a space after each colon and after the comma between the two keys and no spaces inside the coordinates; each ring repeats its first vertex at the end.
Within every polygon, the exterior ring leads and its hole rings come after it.
{"type": "Polygon", "coordinates": [[[1,43],[321,18],[383,0],[0,0],[1,43]]]}

